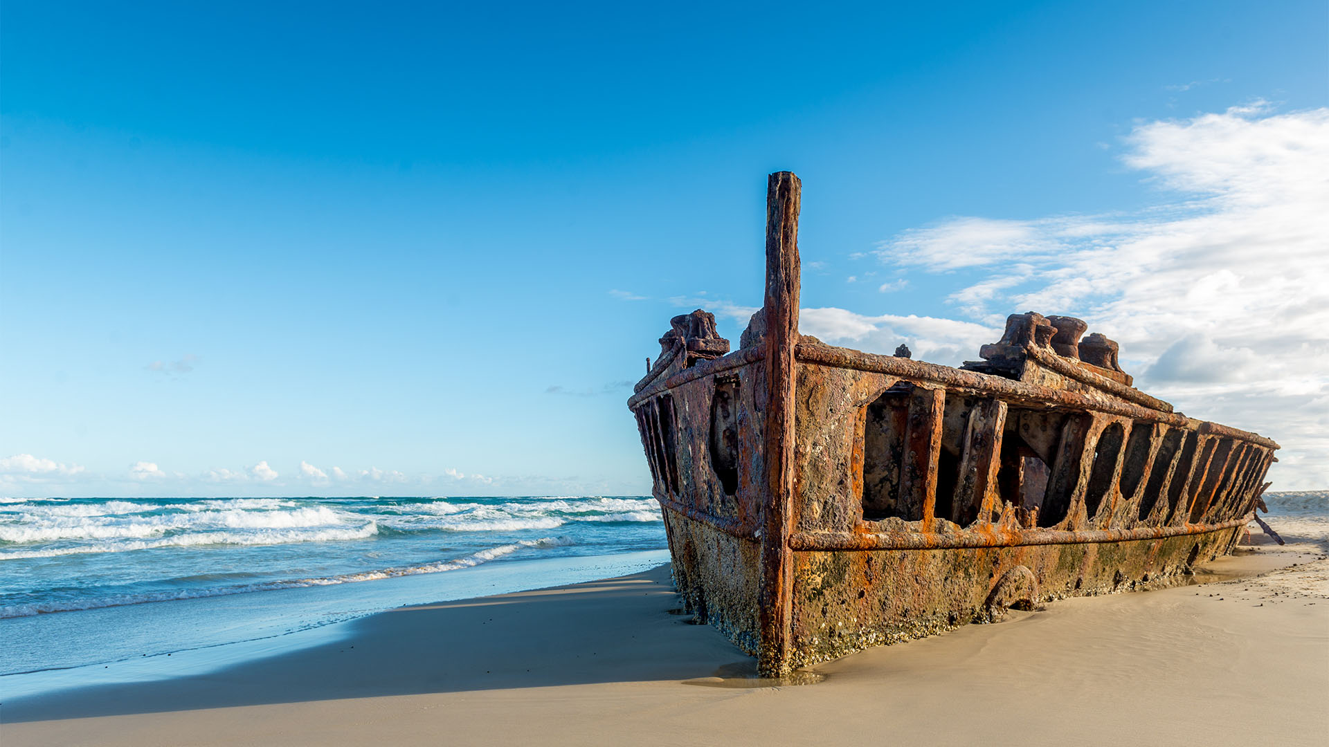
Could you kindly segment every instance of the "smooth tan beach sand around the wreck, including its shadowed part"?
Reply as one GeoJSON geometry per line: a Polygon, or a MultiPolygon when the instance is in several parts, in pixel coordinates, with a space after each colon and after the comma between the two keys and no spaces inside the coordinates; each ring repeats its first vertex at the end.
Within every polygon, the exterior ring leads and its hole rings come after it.
{"type": "Polygon", "coordinates": [[[762,686],[714,629],[670,614],[662,568],[403,607],[209,675],[8,702],[0,746],[1329,743],[1324,549],[1211,569],[1201,586],[1061,601],[762,686]]]}

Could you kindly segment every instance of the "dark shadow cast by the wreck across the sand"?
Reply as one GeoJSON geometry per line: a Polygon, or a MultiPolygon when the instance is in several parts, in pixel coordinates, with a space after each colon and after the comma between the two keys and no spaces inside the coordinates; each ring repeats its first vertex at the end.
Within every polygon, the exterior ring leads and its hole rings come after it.
{"type": "Polygon", "coordinates": [[[755,673],[755,661],[714,627],[670,614],[676,605],[668,570],[659,568],[538,591],[400,607],[347,623],[348,634],[338,641],[219,671],[8,700],[0,720],[602,682],[743,679],[755,673]]]}

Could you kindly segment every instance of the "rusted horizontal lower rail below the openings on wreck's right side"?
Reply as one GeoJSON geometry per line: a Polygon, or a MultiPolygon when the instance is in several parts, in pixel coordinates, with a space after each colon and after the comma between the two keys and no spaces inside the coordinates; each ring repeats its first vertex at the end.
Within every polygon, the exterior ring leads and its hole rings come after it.
{"type": "Polygon", "coordinates": [[[1240,526],[1251,521],[1243,516],[1229,521],[1183,526],[1139,526],[1135,529],[1023,529],[1003,530],[995,526],[970,529],[956,534],[902,532],[797,532],[789,537],[793,550],[942,550],[953,548],[1015,548],[1022,545],[1071,545],[1162,540],[1179,534],[1207,534],[1240,526]]]}

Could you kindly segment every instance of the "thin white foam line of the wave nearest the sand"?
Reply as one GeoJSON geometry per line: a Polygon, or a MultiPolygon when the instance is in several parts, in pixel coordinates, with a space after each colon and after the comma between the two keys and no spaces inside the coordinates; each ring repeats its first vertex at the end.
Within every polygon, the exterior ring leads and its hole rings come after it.
{"type": "Polygon", "coordinates": [[[444,560],[423,565],[405,568],[385,568],[360,573],[346,573],[340,576],[324,576],[316,578],[295,578],[287,581],[264,581],[259,584],[242,584],[235,586],[221,586],[211,589],[179,589],[170,591],[152,591],[145,594],[120,594],[94,599],[77,599],[69,602],[45,602],[33,605],[0,606],[0,618],[31,617],[41,613],[86,610],[94,607],[110,607],[122,605],[137,605],[144,602],[165,602],[173,599],[197,599],[201,597],[223,597],[230,594],[247,594],[251,591],[272,591],[278,589],[296,589],[300,586],[332,586],[336,584],[356,584],[360,581],[377,581],[381,578],[395,578],[400,576],[415,576],[421,573],[441,573],[462,568],[473,568],[517,550],[529,548],[557,548],[573,544],[567,537],[545,537],[541,540],[522,540],[508,545],[486,548],[462,556],[460,558],[444,560]]]}

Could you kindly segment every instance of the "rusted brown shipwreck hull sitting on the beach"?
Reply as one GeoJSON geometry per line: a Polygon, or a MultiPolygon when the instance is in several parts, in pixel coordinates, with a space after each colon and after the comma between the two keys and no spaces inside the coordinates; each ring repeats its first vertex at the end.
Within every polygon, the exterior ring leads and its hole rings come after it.
{"type": "Polygon", "coordinates": [[[1011,315],[960,368],[800,335],[800,190],[769,177],[739,348],[711,314],[675,316],[627,400],[678,591],[759,674],[1232,550],[1278,444],[1134,388],[1075,318],[1011,315]]]}

